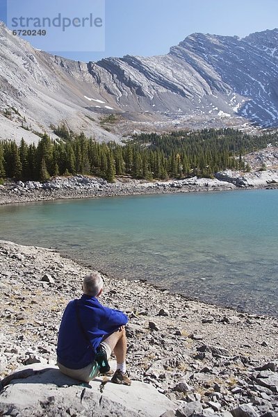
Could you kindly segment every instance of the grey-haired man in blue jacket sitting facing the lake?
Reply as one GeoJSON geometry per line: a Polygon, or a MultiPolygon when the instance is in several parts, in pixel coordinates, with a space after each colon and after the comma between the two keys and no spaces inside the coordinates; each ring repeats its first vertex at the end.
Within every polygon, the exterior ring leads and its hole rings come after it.
{"type": "Polygon", "coordinates": [[[83,279],[82,297],[67,304],[58,334],[57,364],[65,375],[89,382],[99,373],[99,354],[105,364],[114,352],[117,370],[111,382],[130,385],[124,329],[128,318],[99,302],[103,286],[99,272],[92,272],[83,279]]]}

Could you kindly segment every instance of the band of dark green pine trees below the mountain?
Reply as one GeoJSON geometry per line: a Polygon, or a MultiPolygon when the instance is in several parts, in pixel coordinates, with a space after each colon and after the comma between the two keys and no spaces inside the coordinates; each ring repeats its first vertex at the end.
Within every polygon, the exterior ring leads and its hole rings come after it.
{"type": "Polygon", "coordinates": [[[179,131],[134,136],[125,146],[86,138],[72,137],[57,128],[63,140],[51,141],[44,134],[38,145],[22,139],[0,142],[0,178],[46,181],[57,175],[88,174],[113,181],[116,175],[136,179],[213,177],[219,170],[244,170],[244,154],[277,143],[277,137],[265,134],[248,136],[233,129],[179,131]]]}

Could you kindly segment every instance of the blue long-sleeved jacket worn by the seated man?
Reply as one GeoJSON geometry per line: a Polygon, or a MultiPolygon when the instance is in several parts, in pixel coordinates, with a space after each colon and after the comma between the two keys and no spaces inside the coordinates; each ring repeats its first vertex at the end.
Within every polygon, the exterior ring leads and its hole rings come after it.
{"type": "Polygon", "coordinates": [[[76,300],[67,304],[58,334],[58,362],[70,369],[81,369],[92,363],[103,336],[114,333],[120,326],[126,325],[128,320],[122,311],[109,309],[89,295],[82,295],[78,309],[90,343],[77,319],[76,300]]]}

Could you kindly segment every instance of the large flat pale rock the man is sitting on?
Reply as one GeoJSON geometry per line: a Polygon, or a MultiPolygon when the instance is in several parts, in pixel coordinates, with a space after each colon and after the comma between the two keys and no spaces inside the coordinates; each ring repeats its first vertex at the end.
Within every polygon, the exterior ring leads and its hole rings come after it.
{"type": "MultiPolygon", "coordinates": [[[[26,366],[22,369],[42,369],[26,366]]],[[[107,378],[106,378],[107,379],[107,378]]],[[[0,394],[0,410],[7,416],[148,416],[159,417],[177,408],[154,386],[133,381],[131,386],[112,384],[103,377],[90,384],[61,374],[56,366],[26,379],[13,379],[0,394]]]]}

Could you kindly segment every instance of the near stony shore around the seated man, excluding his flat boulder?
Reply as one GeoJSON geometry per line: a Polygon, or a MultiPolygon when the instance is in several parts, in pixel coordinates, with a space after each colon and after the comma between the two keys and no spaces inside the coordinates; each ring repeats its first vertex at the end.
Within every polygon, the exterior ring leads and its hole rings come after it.
{"type": "MultiPolygon", "coordinates": [[[[55,250],[3,240],[0,260],[1,377],[35,362],[54,365],[63,310],[81,296],[82,277],[91,269],[55,250]]],[[[278,411],[273,405],[278,391],[268,386],[268,399],[261,397],[265,388],[260,384],[267,379],[261,382],[259,376],[269,373],[278,382],[277,319],[186,300],[145,281],[107,276],[104,281],[101,302],[129,316],[133,379],[183,404],[198,400],[204,409],[211,408],[207,403],[212,401],[219,411],[230,411],[258,396],[264,402],[253,402],[259,415],[265,407],[278,411]],[[267,371],[258,370],[264,366],[267,371]]]]}

